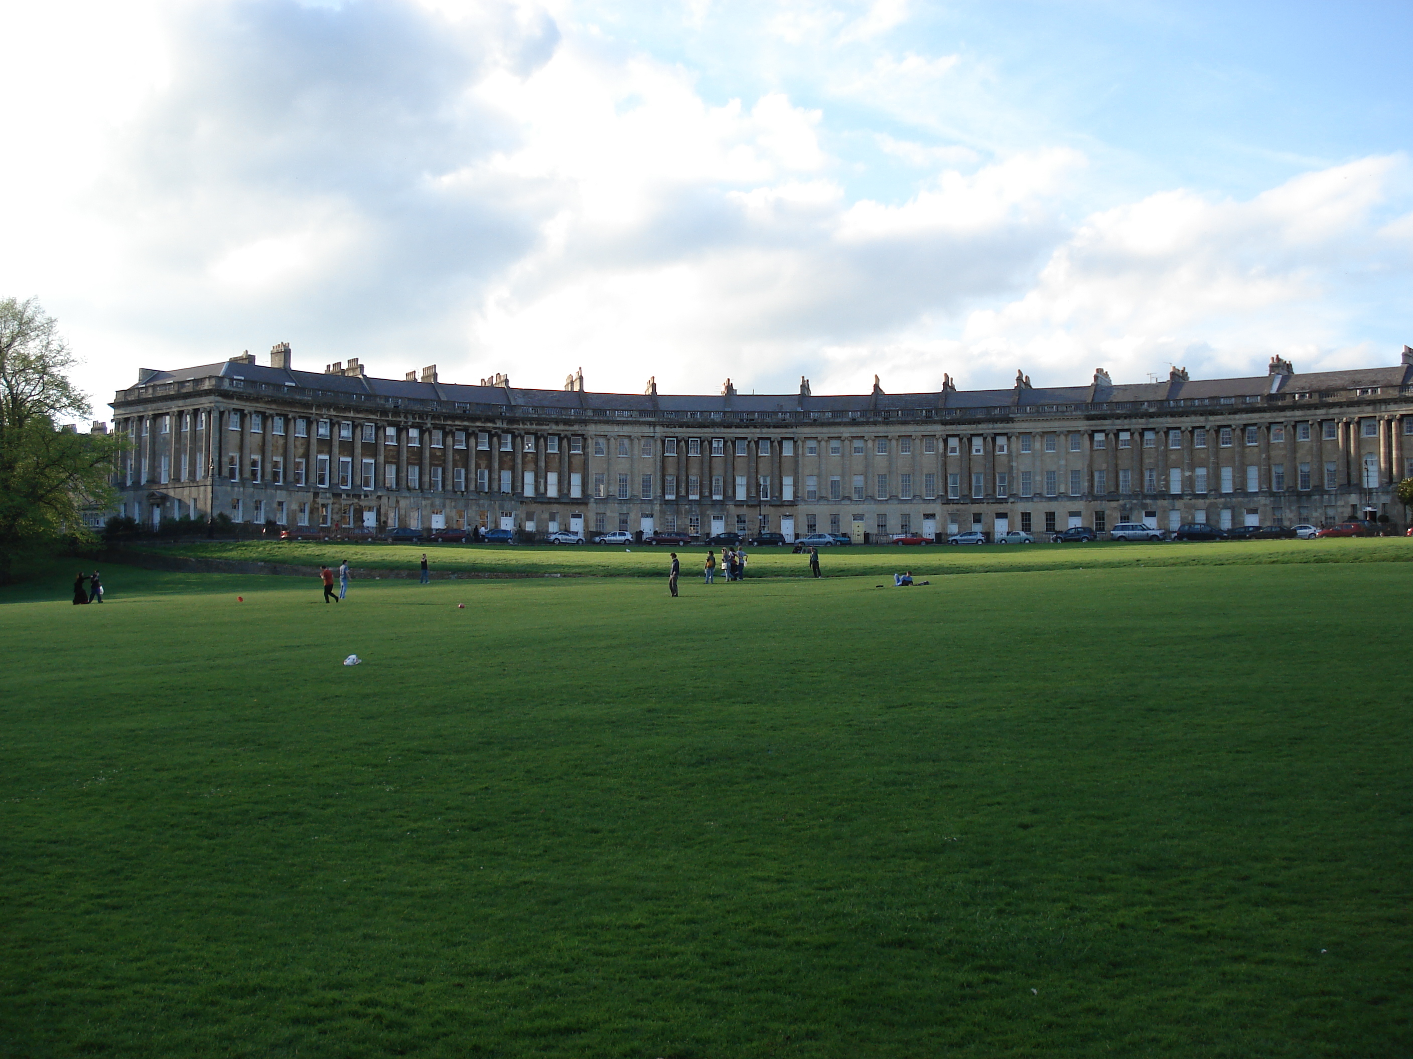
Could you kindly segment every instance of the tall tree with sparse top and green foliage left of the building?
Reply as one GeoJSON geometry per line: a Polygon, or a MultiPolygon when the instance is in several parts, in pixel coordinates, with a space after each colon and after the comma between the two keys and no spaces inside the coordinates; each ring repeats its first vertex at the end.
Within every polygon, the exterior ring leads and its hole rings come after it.
{"type": "Polygon", "coordinates": [[[38,299],[0,301],[0,582],[20,551],[88,537],[81,508],[113,503],[117,436],[61,425],[89,415],[68,377],[75,363],[38,299]]]}

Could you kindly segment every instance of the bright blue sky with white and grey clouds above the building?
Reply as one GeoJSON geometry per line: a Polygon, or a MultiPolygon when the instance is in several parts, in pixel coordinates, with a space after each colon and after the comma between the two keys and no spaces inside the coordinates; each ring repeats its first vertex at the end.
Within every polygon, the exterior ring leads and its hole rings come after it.
{"type": "Polygon", "coordinates": [[[140,367],[887,393],[1397,363],[1413,4],[0,0],[0,297],[140,367]]]}

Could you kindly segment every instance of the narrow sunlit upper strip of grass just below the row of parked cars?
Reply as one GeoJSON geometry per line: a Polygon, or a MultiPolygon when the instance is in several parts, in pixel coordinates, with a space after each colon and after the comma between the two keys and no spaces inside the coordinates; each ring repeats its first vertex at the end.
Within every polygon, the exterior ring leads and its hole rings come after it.
{"type": "MultiPolygon", "coordinates": [[[[240,541],[184,545],[143,545],[162,555],[205,559],[240,559],[276,563],[331,563],[343,558],[357,569],[417,568],[427,552],[432,569],[455,573],[564,573],[598,578],[663,576],[668,554],[677,552],[682,569],[698,572],[705,545],[632,548],[608,545],[384,545],[315,544],[308,541],[240,541]]],[[[714,548],[721,555],[721,548],[714,548]]],[[[788,548],[749,548],[747,576],[807,578],[808,558],[788,548]]],[[[1222,541],[1211,544],[1034,544],[955,546],[876,545],[821,548],[825,576],[882,576],[909,569],[913,573],[989,573],[1051,570],[1082,566],[1228,566],[1325,562],[1410,562],[1413,538],[1327,538],[1321,541],[1222,541]]]]}

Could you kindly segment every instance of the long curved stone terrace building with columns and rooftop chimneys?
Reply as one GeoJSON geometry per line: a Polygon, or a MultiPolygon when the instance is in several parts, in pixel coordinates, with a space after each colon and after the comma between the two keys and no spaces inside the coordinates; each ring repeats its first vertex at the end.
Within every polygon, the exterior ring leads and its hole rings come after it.
{"type": "Polygon", "coordinates": [[[1402,518],[1413,350],[1395,367],[1009,390],[598,394],[250,354],[120,391],[123,514],[383,532],[472,525],[862,537],[1147,521],[1402,518]]]}

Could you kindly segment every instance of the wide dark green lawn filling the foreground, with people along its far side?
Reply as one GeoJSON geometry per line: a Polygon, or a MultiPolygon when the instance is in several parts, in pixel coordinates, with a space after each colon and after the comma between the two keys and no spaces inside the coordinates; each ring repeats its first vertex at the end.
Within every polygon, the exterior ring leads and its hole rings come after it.
{"type": "Polygon", "coordinates": [[[0,592],[0,1053],[1409,1055],[1386,544],[0,592]]]}

